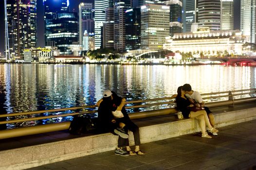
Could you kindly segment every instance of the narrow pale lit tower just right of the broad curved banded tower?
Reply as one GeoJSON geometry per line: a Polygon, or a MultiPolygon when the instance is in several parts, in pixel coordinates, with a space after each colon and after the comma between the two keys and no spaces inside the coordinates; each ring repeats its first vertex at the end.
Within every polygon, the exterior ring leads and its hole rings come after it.
{"type": "Polygon", "coordinates": [[[221,30],[234,30],[234,1],[221,0],[221,30]]]}

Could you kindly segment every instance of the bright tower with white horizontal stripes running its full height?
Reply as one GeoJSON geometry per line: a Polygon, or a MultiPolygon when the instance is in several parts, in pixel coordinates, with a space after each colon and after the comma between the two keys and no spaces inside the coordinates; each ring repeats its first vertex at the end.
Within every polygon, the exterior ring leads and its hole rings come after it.
{"type": "Polygon", "coordinates": [[[95,49],[101,47],[101,30],[106,22],[106,8],[113,6],[112,0],[94,0],[94,43],[95,49]]]}

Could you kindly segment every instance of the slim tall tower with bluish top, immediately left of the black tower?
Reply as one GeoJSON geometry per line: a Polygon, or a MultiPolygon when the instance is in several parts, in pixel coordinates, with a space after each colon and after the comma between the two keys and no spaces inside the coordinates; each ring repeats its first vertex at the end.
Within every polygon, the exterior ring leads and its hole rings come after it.
{"type": "Polygon", "coordinates": [[[130,0],[114,1],[114,49],[125,51],[126,10],[131,6],[130,0]]]}

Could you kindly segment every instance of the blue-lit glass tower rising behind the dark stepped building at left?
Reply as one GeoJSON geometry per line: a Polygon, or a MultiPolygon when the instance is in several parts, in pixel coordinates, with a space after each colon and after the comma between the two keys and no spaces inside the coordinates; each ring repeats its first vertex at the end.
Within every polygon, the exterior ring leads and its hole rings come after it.
{"type": "Polygon", "coordinates": [[[69,12],[69,0],[44,0],[44,32],[45,32],[45,46],[54,46],[55,42],[51,42],[49,34],[51,33],[54,15],[57,13],[69,12]]]}

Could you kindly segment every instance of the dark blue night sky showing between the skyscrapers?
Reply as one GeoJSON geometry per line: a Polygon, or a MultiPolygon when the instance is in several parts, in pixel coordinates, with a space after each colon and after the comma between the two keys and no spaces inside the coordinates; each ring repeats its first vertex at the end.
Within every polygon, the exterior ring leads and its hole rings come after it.
{"type": "MultiPolygon", "coordinates": [[[[70,11],[77,12],[80,2],[91,3],[93,0],[69,0],[70,11]]],[[[4,52],[4,2],[0,0],[0,52],[4,52]]],[[[240,0],[234,0],[234,29],[240,29],[240,0]]],[[[37,47],[44,46],[43,0],[37,0],[37,47]]]]}

